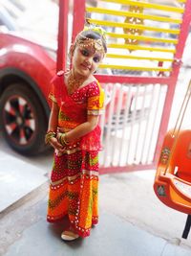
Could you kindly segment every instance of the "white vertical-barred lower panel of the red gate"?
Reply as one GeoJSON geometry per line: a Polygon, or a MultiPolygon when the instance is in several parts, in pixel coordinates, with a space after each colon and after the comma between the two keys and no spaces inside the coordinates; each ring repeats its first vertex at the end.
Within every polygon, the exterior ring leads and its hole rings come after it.
{"type": "Polygon", "coordinates": [[[167,86],[104,84],[102,167],[151,164],[167,86]]]}

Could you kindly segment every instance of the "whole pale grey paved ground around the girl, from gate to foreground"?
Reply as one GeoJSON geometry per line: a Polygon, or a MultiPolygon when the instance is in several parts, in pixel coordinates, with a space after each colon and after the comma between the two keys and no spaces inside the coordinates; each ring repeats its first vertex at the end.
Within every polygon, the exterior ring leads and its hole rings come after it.
{"type": "MultiPolygon", "coordinates": [[[[2,163],[7,157],[7,152],[0,152],[2,163]]],[[[8,170],[11,165],[17,172],[21,167],[19,161],[25,159],[18,159],[13,152],[6,169],[8,170]]],[[[24,197],[11,203],[0,213],[0,255],[191,255],[191,235],[187,240],[181,239],[186,216],[166,207],[155,196],[155,171],[101,175],[99,224],[87,239],[71,243],[62,242],[60,233],[65,225],[64,221],[56,225],[46,221],[48,173],[51,162],[52,156],[47,155],[39,160],[26,160],[26,164],[23,165],[23,176],[26,180],[31,176],[31,173],[26,172],[26,167],[31,170],[33,166],[36,174],[33,176],[36,181],[41,181],[40,184],[37,182],[38,185],[24,197]],[[48,162],[49,166],[44,164],[48,162]]],[[[14,180],[17,185],[25,182],[20,178],[14,180]]],[[[11,186],[12,190],[16,188],[13,183],[11,186]]],[[[14,192],[16,191],[18,190],[15,189],[14,192]]],[[[4,200],[6,197],[10,198],[11,194],[4,194],[4,200]]]]}

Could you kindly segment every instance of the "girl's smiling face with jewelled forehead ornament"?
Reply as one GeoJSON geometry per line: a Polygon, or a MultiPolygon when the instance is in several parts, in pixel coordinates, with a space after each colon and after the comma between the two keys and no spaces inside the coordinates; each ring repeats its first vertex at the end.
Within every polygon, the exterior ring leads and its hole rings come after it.
{"type": "Polygon", "coordinates": [[[88,78],[93,75],[103,58],[103,51],[96,51],[95,47],[86,40],[83,44],[75,45],[72,59],[74,76],[80,75],[88,78]]]}

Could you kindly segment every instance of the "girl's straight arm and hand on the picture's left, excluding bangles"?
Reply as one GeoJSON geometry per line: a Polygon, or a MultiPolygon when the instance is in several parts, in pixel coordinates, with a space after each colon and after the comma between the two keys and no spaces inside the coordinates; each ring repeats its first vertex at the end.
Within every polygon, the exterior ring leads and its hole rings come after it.
{"type": "MultiPolygon", "coordinates": [[[[48,131],[57,131],[57,122],[58,122],[58,113],[59,113],[59,107],[56,103],[53,103],[52,109],[51,109],[51,114],[49,118],[49,128],[48,131]]],[[[50,144],[53,146],[55,150],[62,150],[63,146],[57,141],[56,138],[51,138],[50,144]]]]}

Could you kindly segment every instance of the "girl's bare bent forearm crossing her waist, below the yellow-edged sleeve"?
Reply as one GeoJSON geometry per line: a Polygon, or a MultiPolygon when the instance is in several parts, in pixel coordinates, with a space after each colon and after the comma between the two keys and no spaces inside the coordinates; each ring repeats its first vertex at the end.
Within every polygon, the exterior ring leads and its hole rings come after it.
{"type": "Polygon", "coordinates": [[[83,135],[87,134],[88,132],[96,128],[97,124],[98,124],[98,116],[88,115],[87,122],[77,126],[76,128],[66,133],[66,141],[67,142],[75,141],[76,139],[82,137],[83,135]]]}

